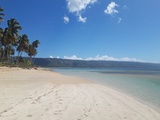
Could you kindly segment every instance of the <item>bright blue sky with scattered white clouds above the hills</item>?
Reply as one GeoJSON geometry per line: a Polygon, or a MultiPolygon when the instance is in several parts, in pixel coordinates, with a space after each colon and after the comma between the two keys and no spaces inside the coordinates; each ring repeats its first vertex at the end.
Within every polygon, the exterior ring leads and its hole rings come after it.
{"type": "Polygon", "coordinates": [[[0,0],[36,57],[160,63],[159,0],[0,0]]]}

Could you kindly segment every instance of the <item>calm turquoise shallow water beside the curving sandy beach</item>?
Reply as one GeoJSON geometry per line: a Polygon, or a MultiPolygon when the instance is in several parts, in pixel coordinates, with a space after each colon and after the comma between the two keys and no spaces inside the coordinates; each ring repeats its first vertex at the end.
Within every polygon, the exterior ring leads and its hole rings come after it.
{"type": "Polygon", "coordinates": [[[112,87],[160,112],[160,69],[54,69],[112,87]]]}

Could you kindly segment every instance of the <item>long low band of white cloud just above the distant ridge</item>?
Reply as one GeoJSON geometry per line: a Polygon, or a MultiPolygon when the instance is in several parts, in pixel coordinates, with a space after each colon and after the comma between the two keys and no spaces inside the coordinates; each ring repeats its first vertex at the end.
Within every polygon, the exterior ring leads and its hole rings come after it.
{"type": "Polygon", "coordinates": [[[136,58],[129,58],[129,57],[123,57],[123,58],[115,58],[115,57],[111,57],[111,56],[107,56],[107,55],[97,55],[95,57],[88,57],[85,59],[79,58],[76,55],[73,55],[71,57],[68,56],[64,56],[64,59],[70,59],[70,60],[86,60],[86,61],[90,61],[90,60],[103,60],[103,61],[132,61],[132,62],[143,62],[143,60],[140,59],[136,59],[136,58]]]}

